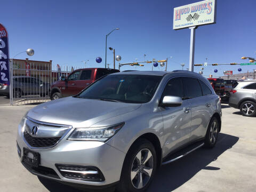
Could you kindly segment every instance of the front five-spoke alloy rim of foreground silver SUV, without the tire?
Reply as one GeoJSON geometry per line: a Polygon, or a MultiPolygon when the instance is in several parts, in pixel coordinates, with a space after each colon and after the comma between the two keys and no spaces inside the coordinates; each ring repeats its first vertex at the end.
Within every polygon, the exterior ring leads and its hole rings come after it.
{"type": "Polygon", "coordinates": [[[149,149],[142,149],[134,157],[131,169],[131,181],[133,187],[141,189],[145,187],[153,171],[153,155],[149,149]]]}

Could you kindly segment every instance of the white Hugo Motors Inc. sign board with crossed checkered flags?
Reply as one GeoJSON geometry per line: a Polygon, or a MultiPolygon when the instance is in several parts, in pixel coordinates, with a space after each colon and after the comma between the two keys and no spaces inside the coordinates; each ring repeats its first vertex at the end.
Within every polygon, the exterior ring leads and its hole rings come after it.
{"type": "Polygon", "coordinates": [[[215,0],[201,1],[174,8],[173,29],[215,23],[215,0]]]}

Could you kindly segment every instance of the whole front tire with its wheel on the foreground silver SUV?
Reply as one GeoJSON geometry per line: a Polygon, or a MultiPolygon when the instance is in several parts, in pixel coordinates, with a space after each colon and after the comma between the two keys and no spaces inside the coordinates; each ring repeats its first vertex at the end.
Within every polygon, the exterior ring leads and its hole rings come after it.
{"type": "Polygon", "coordinates": [[[146,191],[155,175],[156,167],[156,150],[152,143],[146,139],[135,141],[126,154],[116,190],[119,192],[146,191]],[[141,159],[139,160],[138,157],[141,159]],[[141,178],[143,182],[140,182],[141,178]]]}

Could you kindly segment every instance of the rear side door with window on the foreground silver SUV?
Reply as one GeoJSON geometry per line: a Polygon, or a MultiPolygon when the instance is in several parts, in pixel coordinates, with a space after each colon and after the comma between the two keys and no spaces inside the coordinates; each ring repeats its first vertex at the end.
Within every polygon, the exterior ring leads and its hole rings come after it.
{"type": "MultiPolygon", "coordinates": [[[[191,137],[195,141],[205,137],[207,125],[212,114],[211,90],[203,95],[201,86],[206,86],[193,77],[183,77],[185,99],[191,105],[191,137]],[[202,84],[202,85],[201,85],[202,84]]],[[[206,88],[205,88],[206,89],[206,88]]]]}

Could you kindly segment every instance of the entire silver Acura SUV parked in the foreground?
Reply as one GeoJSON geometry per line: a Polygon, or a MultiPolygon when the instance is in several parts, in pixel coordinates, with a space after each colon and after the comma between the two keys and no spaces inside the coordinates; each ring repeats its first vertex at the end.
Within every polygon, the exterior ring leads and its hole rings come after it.
{"type": "Polygon", "coordinates": [[[189,71],[128,71],[22,118],[17,148],[33,174],[85,188],[145,191],[157,167],[214,147],[220,99],[189,71]]]}

